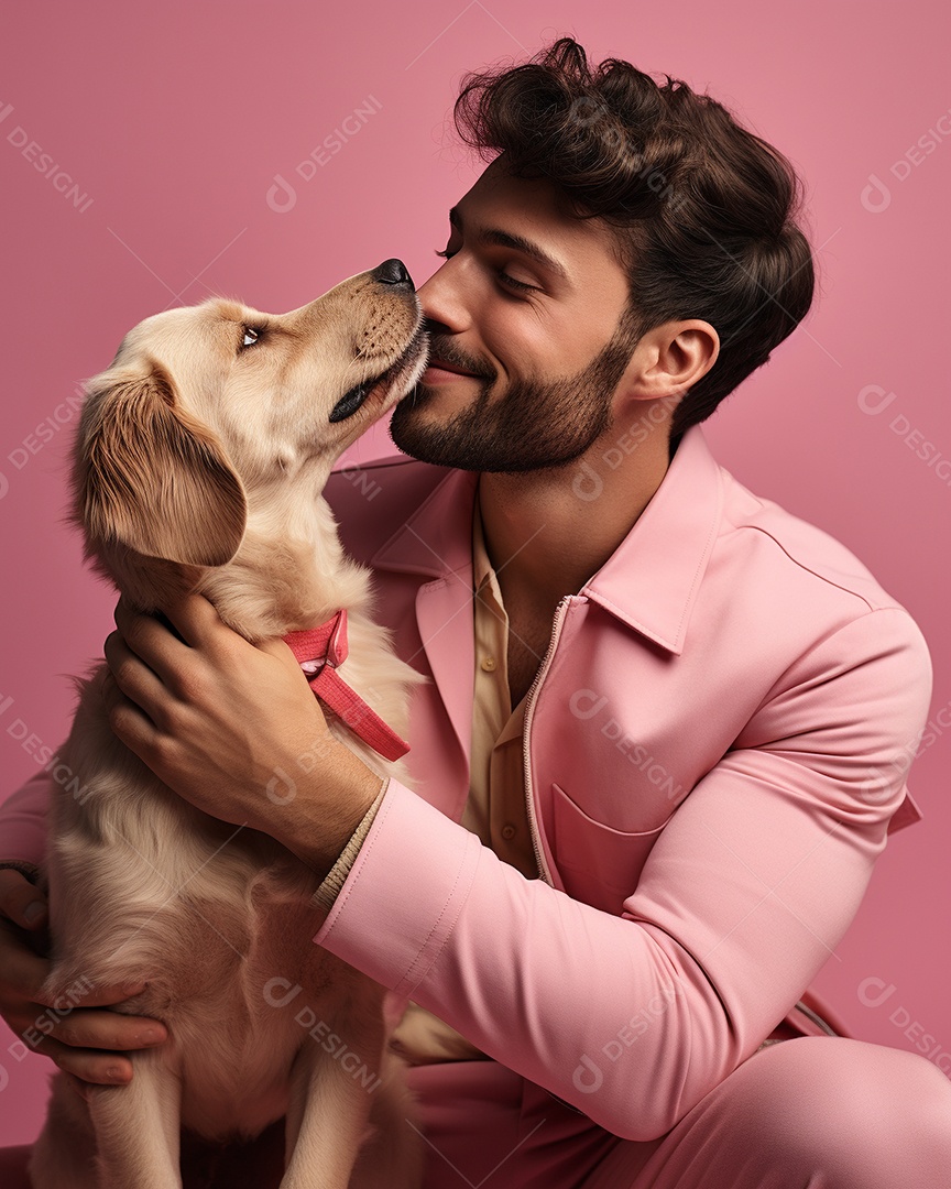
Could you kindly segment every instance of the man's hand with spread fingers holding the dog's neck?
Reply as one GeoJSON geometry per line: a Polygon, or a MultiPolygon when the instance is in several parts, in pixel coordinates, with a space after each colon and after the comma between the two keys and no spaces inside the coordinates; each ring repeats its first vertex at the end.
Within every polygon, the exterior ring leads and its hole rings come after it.
{"type": "Polygon", "coordinates": [[[271,835],[322,877],[379,776],[329,732],[282,640],[250,644],[200,594],[164,614],[175,631],[116,606],[103,686],[112,729],[185,800],[271,835]]]}

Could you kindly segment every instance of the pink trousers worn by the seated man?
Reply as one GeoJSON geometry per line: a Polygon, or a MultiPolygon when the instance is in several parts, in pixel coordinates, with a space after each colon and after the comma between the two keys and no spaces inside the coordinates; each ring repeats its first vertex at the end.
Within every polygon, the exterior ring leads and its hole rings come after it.
{"type": "MultiPolygon", "coordinates": [[[[609,1134],[495,1062],[421,1067],[411,1080],[424,1189],[951,1185],[951,1083],[924,1057],[863,1040],[770,1045],[649,1143],[609,1134]]],[[[281,1124],[241,1149],[194,1146],[185,1189],[276,1189],[282,1151],[281,1124]]],[[[27,1155],[0,1152],[2,1189],[29,1189],[27,1155]]]]}

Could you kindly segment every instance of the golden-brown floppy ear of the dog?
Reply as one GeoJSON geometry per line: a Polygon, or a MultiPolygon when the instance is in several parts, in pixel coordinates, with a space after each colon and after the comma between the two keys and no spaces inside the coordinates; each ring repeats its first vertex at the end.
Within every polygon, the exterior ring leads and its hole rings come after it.
{"type": "Polygon", "coordinates": [[[241,543],[241,480],[158,365],[92,382],[74,480],[76,520],[89,541],[193,566],[221,566],[241,543]]]}

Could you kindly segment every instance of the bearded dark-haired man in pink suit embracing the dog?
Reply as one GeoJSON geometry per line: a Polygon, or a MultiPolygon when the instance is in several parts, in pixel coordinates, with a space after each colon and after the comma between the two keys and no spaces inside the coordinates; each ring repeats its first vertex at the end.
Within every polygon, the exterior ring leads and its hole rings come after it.
{"type": "MultiPolygon", "coordinates": [[[[168,609],[181,640],[119,608],[113,728],[326,876],[315,940],[409,1004],[432,1189],[945,1187],[938,1070],[796,1008],[917,816],[927,652],[698,428],[810,307],[795,176],[712,100],[568,39],[470,80],[456,119],[492,161],[420,290],[430,366],[392,421],[436,466],[329,492],[432,679],[416,792],[326,735],[283,643],[199,598],[168,609]]],[[[5,814],[27,874],[37,807],[5,814]]],[[[0,876],[24,925],[36,893],[0,876]]],[[[45,964],[6,952],[21,1031],[45,964]]],[[[87,1009],[38,1048],[124,1082],[146,1024],[87,1009]]]]}

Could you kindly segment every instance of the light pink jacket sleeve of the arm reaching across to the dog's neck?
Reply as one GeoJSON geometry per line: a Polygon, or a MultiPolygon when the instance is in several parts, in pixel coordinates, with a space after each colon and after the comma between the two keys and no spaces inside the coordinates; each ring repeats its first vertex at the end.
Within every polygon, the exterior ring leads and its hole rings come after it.
{"type": "Polygon", "coordinates": [[[818,642],[676,809],[617,917],[524,879],[393,781],[314,940],[615,1134],[662,1135],[845,933],[930,690],[899,608],[818,642]]]}

